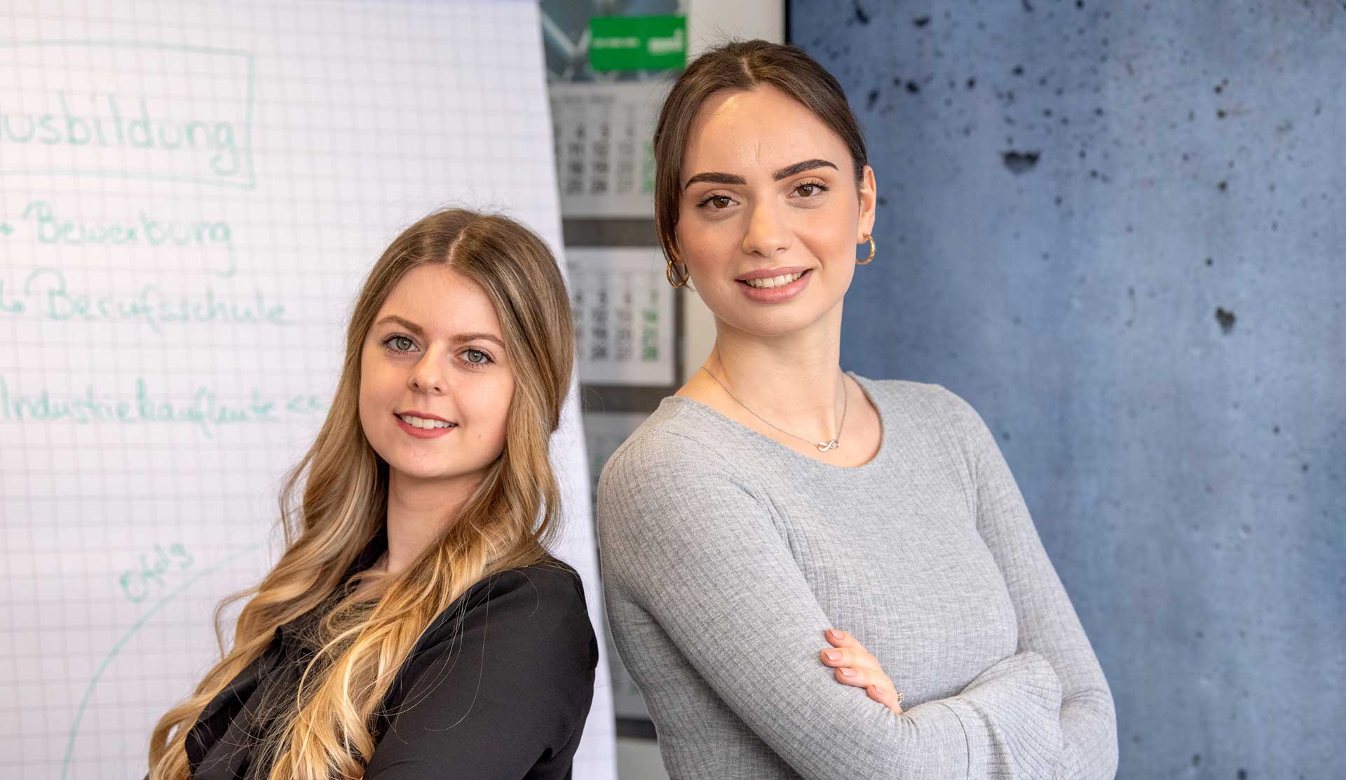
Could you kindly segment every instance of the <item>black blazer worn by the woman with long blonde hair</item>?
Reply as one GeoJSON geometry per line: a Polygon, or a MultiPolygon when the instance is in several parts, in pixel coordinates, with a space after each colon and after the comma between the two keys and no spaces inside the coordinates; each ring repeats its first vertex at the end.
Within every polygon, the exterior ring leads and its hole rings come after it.
{"type": "MultiPolygon", "coordinates": [[[[382,533],[347,573],[386,547],[382,533]]],[[[343,579],[343,583],[345,583],[343,579]]],[[[187,734],[197,780],[252,780],[257,737],[293,695],[331,601],[277,629],[187,734]]],[[[555,560],[487,577],[425,629],[384,699],[365,780],[561,780],[594,699],[598,640],[573,568],[555,560]]]]}

